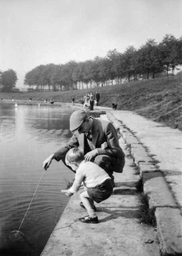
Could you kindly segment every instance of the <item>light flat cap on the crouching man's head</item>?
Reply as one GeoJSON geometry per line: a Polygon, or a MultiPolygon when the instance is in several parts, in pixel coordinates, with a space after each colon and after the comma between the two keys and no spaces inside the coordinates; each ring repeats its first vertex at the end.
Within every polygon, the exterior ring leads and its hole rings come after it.
{"type": "Polygon", "coordinates": [[[82,122],[87,118],[84,110],[76,110],[70,116],[70,131],[78,130],[82,122]]]}

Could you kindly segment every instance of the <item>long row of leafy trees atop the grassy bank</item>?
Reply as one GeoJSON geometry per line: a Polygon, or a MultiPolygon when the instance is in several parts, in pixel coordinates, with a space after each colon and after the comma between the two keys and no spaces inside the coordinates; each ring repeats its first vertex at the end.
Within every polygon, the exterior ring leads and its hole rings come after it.
{"type": "Polygon", "coordinates": [[[43,90],[74,90],[86,87],[107,86],[115,80],[118,84],[131,80],[155,78],[158,74],[168,76],[169,71],[182,64],[182,36],[176,39],[166,34],[157,44],[149,39],[138,50],[129,46],[125,52],[108,51],[105,57],[66,64],[40,65],[25,75],[24,84],[43,90]]]}

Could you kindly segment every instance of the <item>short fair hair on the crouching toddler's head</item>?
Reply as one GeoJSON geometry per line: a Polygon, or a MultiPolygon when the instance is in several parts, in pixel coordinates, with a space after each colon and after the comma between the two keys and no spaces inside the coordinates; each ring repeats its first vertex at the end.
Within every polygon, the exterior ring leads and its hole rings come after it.
{"type": "Polygon", "coordinates": [[[65,162],[67,165],[69,165],[72,162],[80,162],[84,160],[84,153],[80,148],[71,148],[66,156],[65,156],[65,162]]]}

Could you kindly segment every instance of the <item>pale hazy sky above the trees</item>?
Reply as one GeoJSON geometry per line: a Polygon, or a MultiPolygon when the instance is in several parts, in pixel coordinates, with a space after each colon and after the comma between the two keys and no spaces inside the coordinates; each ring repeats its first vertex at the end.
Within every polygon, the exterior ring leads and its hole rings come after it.
{"type": "Polygon", "coordinates": [[[25,74],[182,36],[182,0],[0,0],[0,70],[25,74]]]}

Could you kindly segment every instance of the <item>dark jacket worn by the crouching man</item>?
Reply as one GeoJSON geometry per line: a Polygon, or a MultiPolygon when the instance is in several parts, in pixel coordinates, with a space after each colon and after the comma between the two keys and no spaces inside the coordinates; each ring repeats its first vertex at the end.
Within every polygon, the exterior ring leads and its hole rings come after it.
{"type": "MultiPolygon", "coordinates": [[[[115,127],[111,122],[106,120],[98,120],[95,118],[92,118],[92,120],[92,144],[94,145],[94,148],[97,148],[99,155],[108,155],[115,158],[118,163],[116,168],[119,171],[119,166],[121,166],[120,164],[122,164],[121,162],[125,155],[119,146],[115,127]],[[102,148],[101,146],[104,142],[107,142],[106,148],[102,148]]],[[[69,143],[54,153],[56,160],[60,161],[62,159],[65,161],[65,156],[68,150],[78,146],[82,148],[84,150],[84,154],[86,154],[84,134],[80,134],[78,130],[76,130],[70,138],[69,143]]]]}

